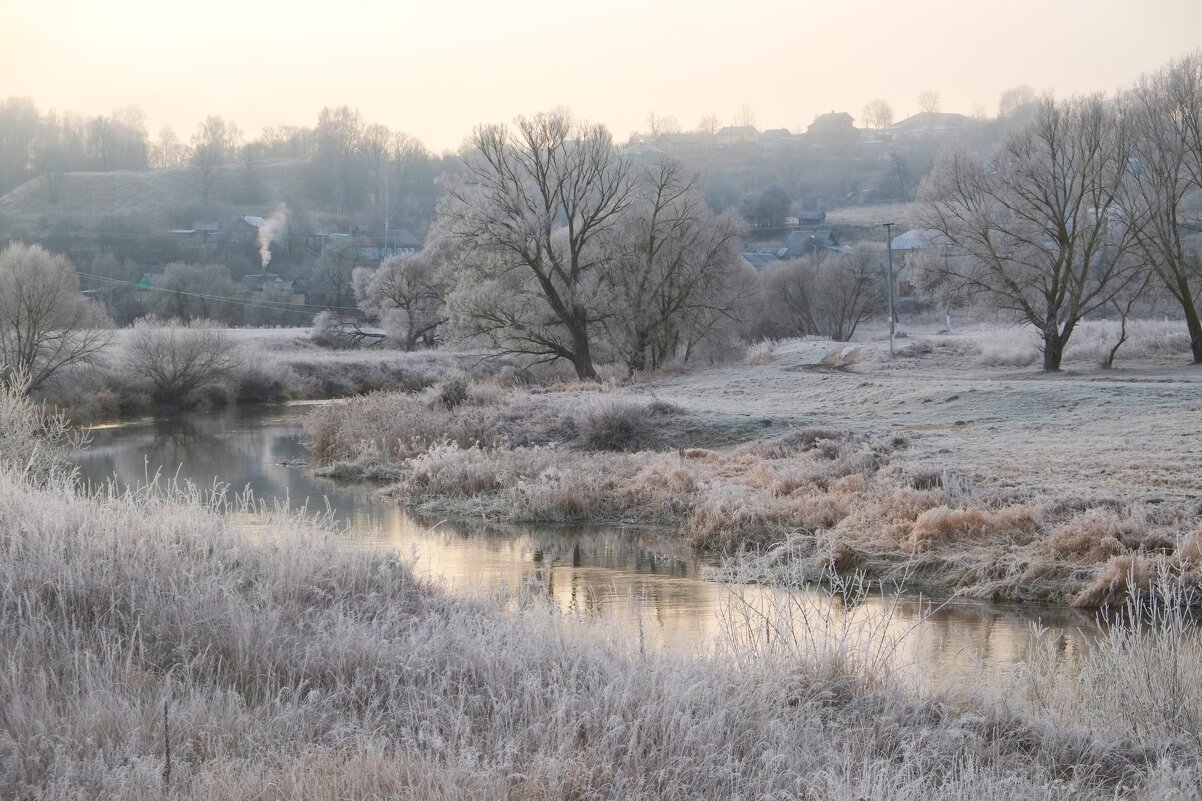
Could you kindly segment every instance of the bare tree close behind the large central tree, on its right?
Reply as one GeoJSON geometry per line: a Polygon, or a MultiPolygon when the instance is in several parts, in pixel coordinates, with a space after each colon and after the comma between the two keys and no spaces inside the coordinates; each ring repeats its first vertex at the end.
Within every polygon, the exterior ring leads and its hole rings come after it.
{"type": "Polygon", "coordinates": [[[614,256],[605,273],[603,325],[630,370],[659,367],[736,315],[754,281],[738,243],[737,220],[713,214],[679,162],[642,172],[637,201],[607,243],[614,256]]]}

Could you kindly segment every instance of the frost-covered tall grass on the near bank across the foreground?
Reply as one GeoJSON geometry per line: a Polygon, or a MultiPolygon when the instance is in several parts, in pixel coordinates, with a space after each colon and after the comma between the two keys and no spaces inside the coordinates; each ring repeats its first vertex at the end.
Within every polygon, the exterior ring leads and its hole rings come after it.
{"type": "Polygon", "coordinates": [[[891,674],[904,631],[815,647],[793,610],[643,651],[536,597],[448,599],[321,521],[260,511],[251,535],[236,499],[82,497],[31,414],[0,397],[22,423],[0,440],[0,797],[1184,801],[1202,782],[1176,583],[1077,670],[1048,641],[1000,689],[891,674]]]}

